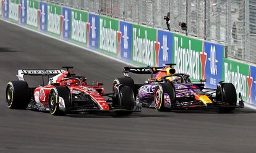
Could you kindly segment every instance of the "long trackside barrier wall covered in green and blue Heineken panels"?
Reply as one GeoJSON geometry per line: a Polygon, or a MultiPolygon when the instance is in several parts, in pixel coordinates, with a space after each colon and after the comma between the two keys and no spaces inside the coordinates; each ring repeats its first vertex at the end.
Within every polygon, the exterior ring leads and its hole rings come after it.
{"type": "Polygon", "coordinates": [[[4,20],[138,66],[176,63],[178,73],[207,79],[207,88],[231,82],[256,105],[256,67],[224,58],[222,44],[36,0],[0,0],[4,20]]]}

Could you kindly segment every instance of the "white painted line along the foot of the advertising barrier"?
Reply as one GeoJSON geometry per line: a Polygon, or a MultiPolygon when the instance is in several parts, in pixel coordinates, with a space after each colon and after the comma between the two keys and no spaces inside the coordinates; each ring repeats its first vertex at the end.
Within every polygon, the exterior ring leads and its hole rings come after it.
{"type": "MultiPolygon", "coordinates": [[[[35,33],[39,33],[39,34],[41,34],[41,35],[48,36],[49,38],[56,39],[56,40],[58,40],[58,41],[61,41],[61,42],[63,42],[63,43],[70,44],[70,45],[75,46],[75,47],[77,47],[77,48],[84,49],[85,51],[94,52],[94,53],[96,53],[96,54],[98,54],[98,55],[100,55],[100,56],[107,57],[107,58],[112,59],[112,60],[115,60],[115,61],[117,61],[117,62],[121,62],[122,64],[127,64],[127,65],[130,65],[131,67],[135,67],[135,66],[136,66],[136,65],[130,64],[130,63],[128,63],[128,62],[124,62],[124,61],[121,60],[121,59],[116,59],[116,58],[114,58],[114,57],[107,56],[106,54],[103,54],[103,53],[101,53],[101,52],[94,51],[93,49],[86,48],[86,47],[83,47],[83,46],[79,46],[78,44],[70,43],[69,41],[65,41],[65,40],[63,40],[63,39],[61,39],[61,38],[56,38],[56,37],[54,37],[54,36],[47,35],[46,33],[41,33],[40,31],[33,30],[33,29],[28,28],[28,27],[19,25],[19,24],[17,24],[17,23],[10,22],[9,20],[4,20],[4,19],[1,19],[1,18],[0,18],[0,20],[2,20],[2,21],[4,21],[4,22],[7,22],[7,23],[10,23],[10,24],[12,24],[12,25],[16,25],[16,26],[18,26],[18,27],[24,28],[24,29],[26,29],[26,30],[33,31],[33,32],[35,32],[35,33]]],[[[245,102],[244,105],[245,105],[245,107],[247,107],[247,108],[249,108],[249,109],[254,109],[254,110],[256,110],[256,106],[254,106],[254,105],[252,105],[252,104],[247,104],[247,103],[245,102]]]]}

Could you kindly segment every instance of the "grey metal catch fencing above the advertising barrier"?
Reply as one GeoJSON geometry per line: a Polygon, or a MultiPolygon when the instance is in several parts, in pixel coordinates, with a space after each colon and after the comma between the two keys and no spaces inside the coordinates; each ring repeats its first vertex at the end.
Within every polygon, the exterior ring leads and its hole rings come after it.
{"type": "Polygon", "coordinates": [[[256,0],[47,0],[228,46],[228,57],[256,63],[256,0]],[[179,22],[187,23],[182,30],[179,22]]]}

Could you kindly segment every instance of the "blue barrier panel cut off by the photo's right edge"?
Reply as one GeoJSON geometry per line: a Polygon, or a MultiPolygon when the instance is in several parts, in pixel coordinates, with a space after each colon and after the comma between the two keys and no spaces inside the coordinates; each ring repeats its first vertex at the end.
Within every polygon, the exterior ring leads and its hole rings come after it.
{"type": "MultiPolygon", "coordinates": [[[[252,79],[251,83],[249,83],[249,78],[247,78],[247,83],[248,83],[248,91],[250,93],[251,97],[248,97],[248,102],[256,105],[256,67],[250,66],[250,79],[252,79]],[[251,84],[251,86],[249,85],[251,84]]],[[[249,96],[249,94],[248,94],[249,96]]]]}

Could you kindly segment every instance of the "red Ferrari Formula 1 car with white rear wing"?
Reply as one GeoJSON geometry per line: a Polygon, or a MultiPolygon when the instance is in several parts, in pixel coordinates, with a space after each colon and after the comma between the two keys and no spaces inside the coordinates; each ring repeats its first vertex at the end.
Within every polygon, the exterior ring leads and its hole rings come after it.
{"type": "Polygon", "coordinates": [[[79,112],[116,112],[129,115],[140,111],[129,86],[115,86],[113,93],[105,94],[103,83],[87,85],[85,77],[70,74],[67,70],[19,70],[19,81],[9,81],[6,88],[6,102],[9,109],[30,109],[49,111],[52,115],[79,112]],[[45,86],[31,88],[24,75],[48,76],[45,86]]]}

